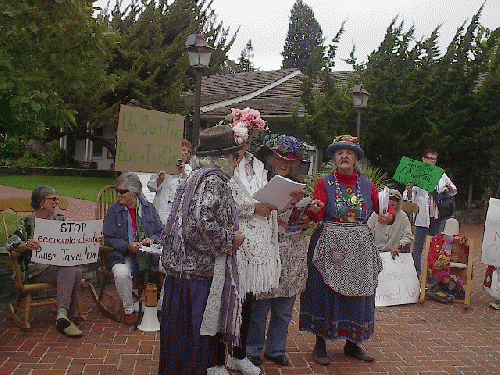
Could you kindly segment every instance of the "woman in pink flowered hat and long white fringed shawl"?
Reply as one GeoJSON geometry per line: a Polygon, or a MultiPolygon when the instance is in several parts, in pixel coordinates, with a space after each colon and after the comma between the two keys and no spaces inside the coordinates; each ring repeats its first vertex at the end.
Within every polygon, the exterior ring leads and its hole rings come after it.
{"type": "Polygon", "coordinates": [[[237,142],[243,144],[229,185],[236,202],[239,228],[245,235],[245,242],[237,252],[240,293],[245,296],[241,345],[229,350],[227,367],[243,375],[258,375],[260,369],[246,357],[245,345],[253,294],[278,286],[281,272],[276,207],[253,198],[253,194],[267,184],[267,172],[264,164],[247,151],[254,136],[267,131],[267,125],[259,111],[251,108],[233,108],[226,122],[231,124],[237,142]]]}

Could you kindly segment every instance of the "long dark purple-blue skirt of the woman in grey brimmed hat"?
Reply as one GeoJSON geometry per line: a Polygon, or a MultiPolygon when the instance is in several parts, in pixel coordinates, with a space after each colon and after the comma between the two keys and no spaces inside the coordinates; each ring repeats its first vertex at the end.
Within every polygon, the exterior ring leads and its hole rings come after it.
{"type": "Polygon", "coordinates": [[[200,336],[211,280],[165,278],[160,375],[204,375],[223,365],[225,346],[218,336],[200,336]]]}

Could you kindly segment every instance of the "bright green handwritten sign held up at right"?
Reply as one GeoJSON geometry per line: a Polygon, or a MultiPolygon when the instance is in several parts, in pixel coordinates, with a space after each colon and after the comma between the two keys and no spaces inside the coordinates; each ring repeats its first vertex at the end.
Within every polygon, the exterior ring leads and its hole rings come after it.
{"type": "Polygon", "coordinates": [[[402,184],[413,184],[432,193],[443,175],[444,170],[432,164],[426,164],[403,156],[393,179],[402,184]]]}

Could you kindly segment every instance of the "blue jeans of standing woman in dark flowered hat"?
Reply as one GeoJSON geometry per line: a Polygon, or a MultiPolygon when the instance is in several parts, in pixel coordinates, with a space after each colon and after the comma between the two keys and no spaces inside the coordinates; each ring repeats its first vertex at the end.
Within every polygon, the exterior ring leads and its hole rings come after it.
{"type": "Polygon", "coordinates": [[[292,320],[295,297],[256,300],[252,305],[252,318],[247,338],[247,356],[260,356],[264,346],[269,357],[286,353],[288,324],[292,320]],[[271,310],[267,328],[267,314],[271,310]]]}

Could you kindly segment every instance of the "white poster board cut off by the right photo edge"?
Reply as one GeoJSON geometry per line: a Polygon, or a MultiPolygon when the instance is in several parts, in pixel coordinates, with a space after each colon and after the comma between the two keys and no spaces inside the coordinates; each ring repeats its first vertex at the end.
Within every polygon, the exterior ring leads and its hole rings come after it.
{"type": "Polygon", "coordinates": [[[500,199],[490,198],[484,222],[481,262],[500,267],[500,199]]]}

